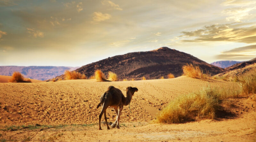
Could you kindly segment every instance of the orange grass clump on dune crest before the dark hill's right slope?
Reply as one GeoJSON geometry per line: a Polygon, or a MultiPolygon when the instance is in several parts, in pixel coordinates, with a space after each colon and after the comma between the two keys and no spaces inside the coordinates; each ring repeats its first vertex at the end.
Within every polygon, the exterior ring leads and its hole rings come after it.
{"type": "Polygon", "coordinates": [[[207,71],[206,74],[204,74],[203,70],[199,66],[193,64],[186,64],[182,66],[182,70],[184,75],[192,78],[208,79],[210,76],[207,71]]]}

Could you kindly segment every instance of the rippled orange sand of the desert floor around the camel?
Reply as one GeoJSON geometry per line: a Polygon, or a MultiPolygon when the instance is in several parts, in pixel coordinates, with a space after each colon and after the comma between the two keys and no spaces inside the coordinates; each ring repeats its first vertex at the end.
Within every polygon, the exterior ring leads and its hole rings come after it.
{"type": "MultiPolygon", "coordinates": [[[[225,108],[227,114],[218,119],[181,124],[152,123],[172,99],[209,85],[236,84],[185,76],[120,82],[81,79],[0,83],[0,141],[255,141],[255,101],[248,98],[230,99],[234,105],[225,108]],[[132,113],[124,106],[120,129],[107,130],[102,123],[103,130],[99,131],[101,108],[96,106],[110,85],[119,88],[124,95],[127,86],[137,87],[139,91],[132,97],[132,113]]],[[[107,117],[108,122],[115,121],[112,108],[107,109],[107,117]]]]}

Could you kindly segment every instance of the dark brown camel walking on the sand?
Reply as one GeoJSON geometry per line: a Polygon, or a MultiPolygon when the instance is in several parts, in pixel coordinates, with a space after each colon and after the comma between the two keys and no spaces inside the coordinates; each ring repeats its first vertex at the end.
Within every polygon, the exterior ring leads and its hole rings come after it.
{"type": "MultiPolygon", "coordinates": [[[[134,92],[137,92],[138,89],[136,87],[126,87],[126,97],[124,97],[124,94],[121,92],[121,90],[115,88],[114,86],[109,86],[108,90],[101,95],[100,97],[100,103],[98,104],[97,108],[102,105],[102,109],[99,115],[99,130],[102,130],[100,127],[100,120],[101,116],[104,113],[105,121],[108,127],[108,122],[107,122],[107,116],[106,116],[106,110],[108,107],[113,107],[116,112],[116,121],[111,125],[112,128],[120,129],[119,127],[119,120],[120,120],[120,115],[121,111],[124,106],[127,106],[131,100],[132,100],[132,95],[134,92]],[[119,110],[117,111],[117,108],[119,107],[119,110]]],[[[109,127],[108,127],[109,130],[109,127]]]]}

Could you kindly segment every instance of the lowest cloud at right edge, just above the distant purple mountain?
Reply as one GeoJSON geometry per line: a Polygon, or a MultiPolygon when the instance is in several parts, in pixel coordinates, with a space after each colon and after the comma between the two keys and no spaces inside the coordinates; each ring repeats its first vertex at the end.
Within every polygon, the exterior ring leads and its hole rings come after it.
{"type": "Polygon", "coordinates": [[[256,45],[238,47],[235,49],[222,51],[215,58],[222,60],[249,60],[256,57],[256,45]]]}

